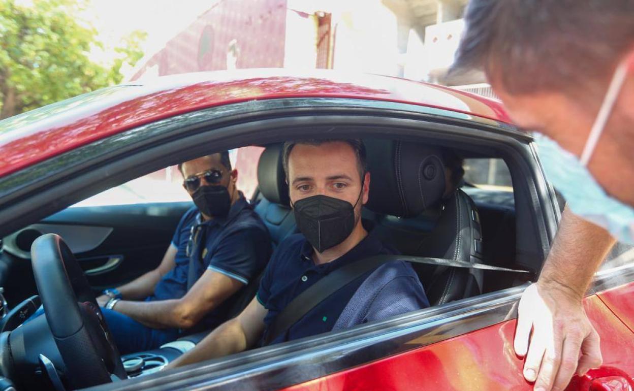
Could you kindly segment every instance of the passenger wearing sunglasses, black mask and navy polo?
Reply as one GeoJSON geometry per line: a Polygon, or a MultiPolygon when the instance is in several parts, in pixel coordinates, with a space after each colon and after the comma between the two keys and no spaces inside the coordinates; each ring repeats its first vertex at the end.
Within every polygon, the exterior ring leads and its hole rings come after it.
{"type": "Polygon", "coordinates": [[[181,163],[195,207],[156,269],[98,297],[121,354],[141,352],[224,321],[231,298],[271,255],[264,223],[236,188],[228,152],[181,163]]]}

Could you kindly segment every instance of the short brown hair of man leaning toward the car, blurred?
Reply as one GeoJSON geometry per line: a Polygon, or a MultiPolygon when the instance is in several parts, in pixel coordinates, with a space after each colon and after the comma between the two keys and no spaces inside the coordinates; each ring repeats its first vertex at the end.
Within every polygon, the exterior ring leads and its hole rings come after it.
{"type": "Polygon", "coordinates": [[[586,91],[634,48],[633,0],[471,0],[451,74],[483,69],[512,94],[586,91]]]}

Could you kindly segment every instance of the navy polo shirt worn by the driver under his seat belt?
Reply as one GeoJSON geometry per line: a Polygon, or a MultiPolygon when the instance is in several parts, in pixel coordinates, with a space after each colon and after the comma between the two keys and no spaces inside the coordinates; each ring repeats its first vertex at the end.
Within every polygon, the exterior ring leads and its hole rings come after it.
{"type": "MultiPolygon", "coordinates": [[[[313,251],[313,247],[302,234],[294,234],[281,242],[273,253],[256,296],[260,304],[264,305],[268,310],[266,317],[264,317],[264,323],[266,324],[264,336],[268,333],[268,329],[275,317],[297,295],[327,276],[328,273],[346,264],[372,257],[373,255],[396,253],[395,250],[385,246],[378,240],[374,231],[371,231],[352,250],[327,264],[314,264],[311,257],[313,251]]],[[[373,276],[373,280],[378,280],[378,282],[373,285],[372,289],[364,290],[363,297],[360,295],[355,296],[355,305],[364,307],[366,311],[361,315],[346,314],[347,318],[354,318],[347,319],[347,327],[429,306],[423,287],[420,285],[420,281],[418,281],[418,277],[411,265],[401,261],[388,262],[330,295],[330,297],[307,312],[289,330],[276,337],[271,344],[333,330],[335,324],[341,324],[341,322],[337,322],[337,319],[342,315],[348,302],[358,291],[359,286],[369,276],[373,276]],[[392,270],[388,278],[377,278],[377,276],[382,275],[382,270],[386,266],[391,267],[392,270]],[[403,305],[399,305],[396,312],[382,311],[382,307],[389,307],[391,302],[399,302],[403,305]],[[384,305],[376,305],[380,303],[384,305]]]]}

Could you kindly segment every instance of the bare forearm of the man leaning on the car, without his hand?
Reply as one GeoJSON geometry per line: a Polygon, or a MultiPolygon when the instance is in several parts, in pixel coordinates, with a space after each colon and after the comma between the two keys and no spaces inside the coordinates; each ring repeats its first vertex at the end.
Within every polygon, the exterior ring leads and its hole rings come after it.
{"type": "Polygon", "coordinates": [[[566,290],[580,300],[614,242],[605,229],[566,208],[538,283],[566,290]]]}

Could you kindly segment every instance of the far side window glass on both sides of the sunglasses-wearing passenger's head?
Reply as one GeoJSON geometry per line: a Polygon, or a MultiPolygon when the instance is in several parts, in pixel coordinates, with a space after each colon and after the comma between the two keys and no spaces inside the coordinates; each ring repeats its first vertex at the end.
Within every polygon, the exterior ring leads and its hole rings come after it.
{"type": "MultiPolygon", "coordinates": [[[[246,146],[231,150],[231,167],[238,170],[238,189],[249,199],[257,188],[257,161],[264,148],[246,146]]],[[[183,189],[178,166],[152,172],[83,200],[72,207],[94,207],[154,202],[185,202],[191,197],[183,189]]]]}

